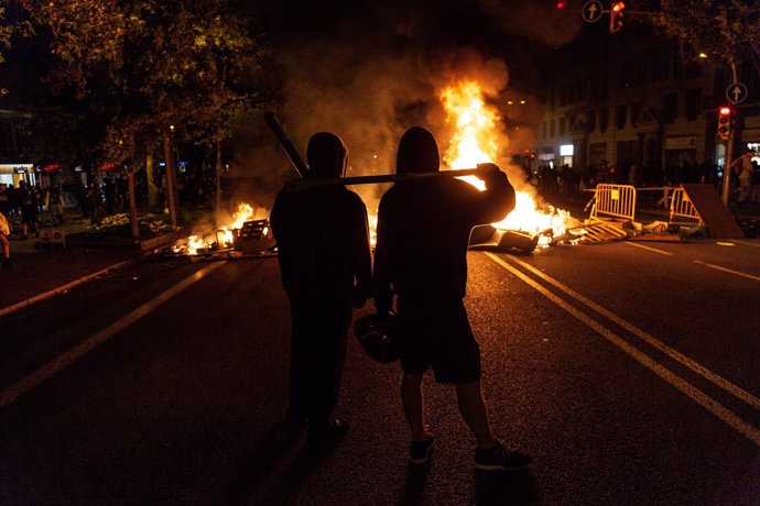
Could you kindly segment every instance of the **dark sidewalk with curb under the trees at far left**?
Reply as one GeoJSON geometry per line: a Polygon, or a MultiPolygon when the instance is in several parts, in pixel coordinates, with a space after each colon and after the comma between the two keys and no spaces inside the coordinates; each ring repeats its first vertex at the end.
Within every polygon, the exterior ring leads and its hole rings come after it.
{"type": "MultiPolygon", "coordinates": [[[[82,212],[67,210],[63,229],[65,248],[41,246],[34,237],[23,238],[20,224],[14,223],[10,237],[13,270],[0,270],[0,311],[142,254],[140,243],[129,235],[128,226],[127,230],[123,226],[94,228],[82,212]]],[[[165,231],[163,234],[170,237],[165,231]]],[[[141,240],[156,237],[162,233],[141,230],[141,240]]]]}

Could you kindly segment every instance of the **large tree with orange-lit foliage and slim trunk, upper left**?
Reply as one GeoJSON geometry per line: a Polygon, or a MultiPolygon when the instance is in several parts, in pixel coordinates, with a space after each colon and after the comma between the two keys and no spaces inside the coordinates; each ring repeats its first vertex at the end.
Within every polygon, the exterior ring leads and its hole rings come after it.
{"type": "Polygon", "coordinates": [[[104,161],[137,168],[163,144],[175,226],[170,127],[203,125],[218,139],[228,132],[228,108],[252,102],[254,94],[230,86],[258,57],[246,19],[228,0],[18,1],[50,30],[57,88],[109,105],[104,161]]]}

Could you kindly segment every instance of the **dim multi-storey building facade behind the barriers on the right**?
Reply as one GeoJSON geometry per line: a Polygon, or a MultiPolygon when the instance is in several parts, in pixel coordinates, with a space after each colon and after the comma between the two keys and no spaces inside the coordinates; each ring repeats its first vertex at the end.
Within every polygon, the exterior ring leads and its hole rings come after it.
{"type": "MultiPolygon", "coordinates": [[[[738,72],[748,94],[732,106],[734,151],[760,153],[760,79],[750,65],[738,72]]],[[[660,186],[723,176],[717,110],[729,105],[732,78],[709,57],[685,63],[675,43],[641,24],[612,34],[589,25],[551,54],[542,74],[535,152],[543,163],[572,167],[586,186],[594,177],[660,186]]]]}

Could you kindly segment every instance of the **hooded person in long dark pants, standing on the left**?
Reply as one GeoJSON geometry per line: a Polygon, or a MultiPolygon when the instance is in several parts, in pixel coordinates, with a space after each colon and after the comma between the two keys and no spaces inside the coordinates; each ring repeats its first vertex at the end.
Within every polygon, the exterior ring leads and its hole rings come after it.
{"type": "MultiPolygon", "coordinates": [[[[307,147],[310,179],[343,177],[348,150],[319,132],[307,147]]],[[[308,427],[313,439],[348,429],[333,416],[346,358],[352,307],[369,298],[371,254],[367,208],[345,186],[292,190],[274,200],[270,223],[291,307],[292,348],[285,435],[308,427]]]]}

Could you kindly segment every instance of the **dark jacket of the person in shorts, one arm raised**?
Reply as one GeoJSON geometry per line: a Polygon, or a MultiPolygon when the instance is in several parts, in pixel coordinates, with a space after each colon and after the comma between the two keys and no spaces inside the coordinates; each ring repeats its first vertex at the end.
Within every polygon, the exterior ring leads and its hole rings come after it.
{"type": "Polygon", "coordinates": [[[399,295],[463,298],[473,228],[500,221],[514,208],[514,189],[499,173],[479,191],[455,178],[397,184],[380,200],[374,253],[378,310],[399,295]]]}

